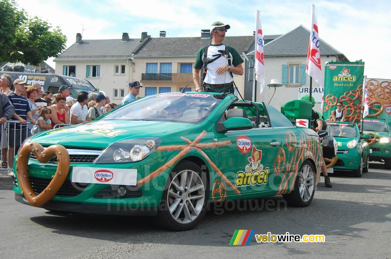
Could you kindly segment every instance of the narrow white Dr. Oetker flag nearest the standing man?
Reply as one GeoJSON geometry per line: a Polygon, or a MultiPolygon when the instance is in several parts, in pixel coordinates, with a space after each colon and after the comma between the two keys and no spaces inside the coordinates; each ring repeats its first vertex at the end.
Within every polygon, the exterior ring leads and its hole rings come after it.
{"type": "Polygon", "coordinates": [[[256,33],[255,33],[255,80],[260,85],[260,94],[265,86],[265,61],[263,56],[263,33],[261,24],[261,14],[256,13],[256,33]]]}

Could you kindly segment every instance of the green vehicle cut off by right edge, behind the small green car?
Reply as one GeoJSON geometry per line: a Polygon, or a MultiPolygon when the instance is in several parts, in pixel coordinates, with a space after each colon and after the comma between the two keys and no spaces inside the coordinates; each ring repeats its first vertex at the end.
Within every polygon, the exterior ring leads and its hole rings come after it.
{"type": "Polygon", "coordinates": [[[372,135],[369,143],[369,160],[384,162],[385,169],[391,169],[391,130],[382,119],[364,119],[363,133],[372,135]]]}

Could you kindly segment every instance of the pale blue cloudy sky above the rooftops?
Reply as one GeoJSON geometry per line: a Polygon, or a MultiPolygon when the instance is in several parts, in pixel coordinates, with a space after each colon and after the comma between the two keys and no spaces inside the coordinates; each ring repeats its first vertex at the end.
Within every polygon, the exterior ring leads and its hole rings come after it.
{"type": "MultiPolygon", "coordinates": [[[[315,4],[319,37],[350,61],[365,61],[368,78],[390,79],[390,0],[17,0],[30,16],[59,26],[71,46],[76,33],[83,39],[141,38],[141,32],[159,37],[198,37],[217,20],[231,25],[227,36],[255,31],[255,13],[261,12],[264,35],[284,34],[303,24],[310,28],[315,4]]],[[[322,46],[321,46],[322,51],[322,46]]],[[[53,59],[48,63],[54,67],[53,59]]],[[[265,64],[267,65],[267,64],[265,64]]]]}

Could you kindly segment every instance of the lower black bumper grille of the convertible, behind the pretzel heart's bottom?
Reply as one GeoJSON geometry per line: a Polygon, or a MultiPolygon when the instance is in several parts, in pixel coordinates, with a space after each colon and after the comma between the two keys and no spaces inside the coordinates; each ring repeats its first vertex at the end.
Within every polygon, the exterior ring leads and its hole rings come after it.
{"type": "MultiPolygon", "coordinates": [[[[33,187],[35,193],[38,195],[49,185],[51,179],[39,178],[29,176],[31,186],[33,187]]],[[[56,193],[56,196],[76,196],[79,195],[87,187],[87,184],[71,182],[65,180],[60,190],[56,193]]]]}

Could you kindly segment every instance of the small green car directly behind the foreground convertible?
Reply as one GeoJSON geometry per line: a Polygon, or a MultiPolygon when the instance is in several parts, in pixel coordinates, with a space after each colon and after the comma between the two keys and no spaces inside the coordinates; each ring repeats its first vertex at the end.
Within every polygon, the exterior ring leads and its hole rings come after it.
{"type": "Polygon", "coordinates": [[[354,177],[368,172],[369,135],[360,136],[357,124],[351,122],[328,122],[327,132],[337,142],[338,160],[333,169],[353,171],[354,177]]]}

